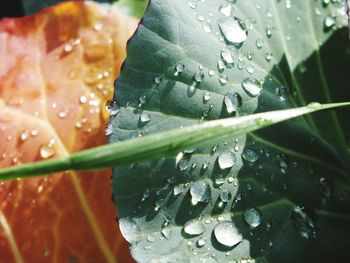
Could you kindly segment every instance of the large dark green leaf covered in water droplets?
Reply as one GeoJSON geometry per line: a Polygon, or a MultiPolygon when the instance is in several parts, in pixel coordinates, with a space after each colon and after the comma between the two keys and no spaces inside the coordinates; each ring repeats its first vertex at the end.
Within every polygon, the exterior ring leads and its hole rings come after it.
{"type": "MultiPolygon", "coordinates": [[[[345,14],[343,0],[151,1],[116,82],[110,142],[349,99],[345,14]]],[[[135,259],[346,261],[349,114],[316,113],[115,168],[135,259]]]]}

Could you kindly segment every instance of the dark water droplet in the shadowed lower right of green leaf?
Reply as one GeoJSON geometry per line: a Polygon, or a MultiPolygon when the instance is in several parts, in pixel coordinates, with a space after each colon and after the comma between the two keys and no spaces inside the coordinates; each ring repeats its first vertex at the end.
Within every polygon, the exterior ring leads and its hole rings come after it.
{"type": "Polygon", "coordinates": [[[291,214],[291,219],[299,229],[302,237],[316,237],[315,212],[305,207],[297,206],[291,214]]]}

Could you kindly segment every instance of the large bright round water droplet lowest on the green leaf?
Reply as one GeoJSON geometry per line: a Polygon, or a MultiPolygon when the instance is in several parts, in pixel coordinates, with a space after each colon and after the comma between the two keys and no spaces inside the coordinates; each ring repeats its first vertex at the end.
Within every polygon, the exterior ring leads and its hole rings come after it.
{"type": "Polygon", "coordinates": [[[220,244],[226,247],[233,247],[243,240],[236,226],[229,221],[218,223],[214,228],[214,236],[220,244]]]}

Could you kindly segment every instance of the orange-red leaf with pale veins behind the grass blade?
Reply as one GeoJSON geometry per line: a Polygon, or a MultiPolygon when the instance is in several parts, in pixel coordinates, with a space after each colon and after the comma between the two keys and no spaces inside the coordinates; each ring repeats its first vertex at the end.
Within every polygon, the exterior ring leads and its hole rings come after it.
{"type": "MultiPolygon", "coordinates": [[[[0,21],[0,168],[106,143],[104,105],[136,25],[88,2],[0,21]]],[[[0,262],[132,262],[110,174],[0,182],[0,262]]]]}

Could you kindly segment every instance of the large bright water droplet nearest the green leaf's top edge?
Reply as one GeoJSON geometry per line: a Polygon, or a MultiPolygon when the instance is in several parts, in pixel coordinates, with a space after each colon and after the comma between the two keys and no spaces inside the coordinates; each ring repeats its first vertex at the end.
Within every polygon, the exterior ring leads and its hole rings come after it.
{"type": "Polygon", "coordinates": [[[219,28],[229,44],[242,44],[247,39],[247,26],[238,17],[219,20],[219,28]]]}

